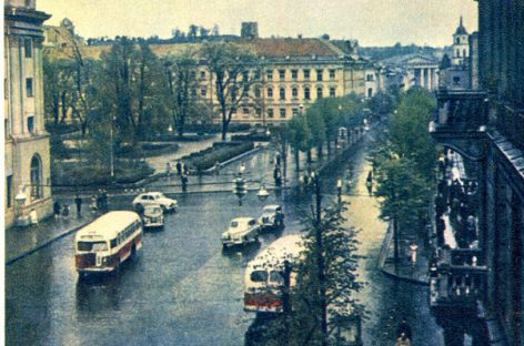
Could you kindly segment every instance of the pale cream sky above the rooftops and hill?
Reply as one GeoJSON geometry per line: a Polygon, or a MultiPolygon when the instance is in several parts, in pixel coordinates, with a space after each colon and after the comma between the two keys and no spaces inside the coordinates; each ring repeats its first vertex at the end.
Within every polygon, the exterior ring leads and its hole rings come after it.
{"type": "Polygon", "coordinates": [[[240,34],[242,21],[256,21],[261,37],[328,33],[361,45],[443,47],[461,14],[470,33],[477,30],[473,0],[37,0],[37,8],[52,14],[48,24],[71,19],[84,38],[169,38],[191,23],[240,34]]]}

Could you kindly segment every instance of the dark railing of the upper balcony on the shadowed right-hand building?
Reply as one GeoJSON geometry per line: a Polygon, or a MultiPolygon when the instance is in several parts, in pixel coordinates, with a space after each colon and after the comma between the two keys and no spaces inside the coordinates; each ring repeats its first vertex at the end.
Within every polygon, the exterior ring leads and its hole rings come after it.
{"type": "Polygon", "coordinates": [[[480,91],[445,90],[437,94],[437,112],[432,132],[478,132],[487,125],[487,95],[480,91]]]}

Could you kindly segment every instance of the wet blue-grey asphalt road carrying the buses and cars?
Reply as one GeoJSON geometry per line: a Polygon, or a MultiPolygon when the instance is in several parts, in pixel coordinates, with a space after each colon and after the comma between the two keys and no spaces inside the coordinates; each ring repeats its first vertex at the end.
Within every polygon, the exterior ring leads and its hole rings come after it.
{"type": "MultiPolygon", "coordinates": [[[[253,167],[268,164],[253,160],[260,162],[253,167]]],[[[360,182],[354,191],[360,196],[349,197],[350,221],[363,230],[361,275],[370,282],[360,294],[370,312],[365,345],[393,345],[401,316],[412,325],[414,345],[443,345],[429,313],[427,288],[393,282],[376,269],[385,226],[376,218],[376,201],[360,191],[367,174],[363,150],[325,179],[328,193],[350,161],[360,182]]],[[[258,246],[223,253],[220,234],[232,217],[256,216],[282,197],[272,194],[262,203],[251,193],[239,206],[232,193],[180,195],[179,212],[168,214],[163,231],[144,234],[140,256],[117,276],[79,281],[72,236],[8,266],[7,344],[242,345],[254,319],[242,309],[244,267],[281,233],[300,232],[299,215],[309,203],[286,201],[286,227],[264,234],[258,246]]],[[[131,200],[115,197],[111,206],[129,208],[131,200]]]]}

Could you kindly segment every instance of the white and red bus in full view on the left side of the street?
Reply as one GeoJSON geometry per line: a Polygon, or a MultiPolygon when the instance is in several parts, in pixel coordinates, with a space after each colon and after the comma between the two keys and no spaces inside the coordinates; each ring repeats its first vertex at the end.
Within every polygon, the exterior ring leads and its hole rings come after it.
{"type": "Polygon", "coordinates": [[[110,273],[142,247],[142,221],[134,212],[109,212],[77,233],[79,274],[110,273]]]}

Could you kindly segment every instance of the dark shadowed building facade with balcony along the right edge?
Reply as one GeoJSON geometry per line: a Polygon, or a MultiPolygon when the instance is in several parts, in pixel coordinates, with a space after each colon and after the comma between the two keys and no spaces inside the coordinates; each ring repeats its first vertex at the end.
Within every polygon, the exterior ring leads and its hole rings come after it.
{"type": "MultiPolygon", "coordinates": [[[[439,142],[474,165],[478,183],[478,262],[486,266],[471,306],[483,323],[478,345],[524,345],[523,23],[524,1],[478,0],[478,90],[440,92],[432,125],[439,142]]],[[[456,275],[465,282],[473,272],[456,275]]],[[[464,316],[466,298],[449,309],[464,316]]]]}

